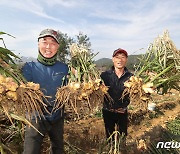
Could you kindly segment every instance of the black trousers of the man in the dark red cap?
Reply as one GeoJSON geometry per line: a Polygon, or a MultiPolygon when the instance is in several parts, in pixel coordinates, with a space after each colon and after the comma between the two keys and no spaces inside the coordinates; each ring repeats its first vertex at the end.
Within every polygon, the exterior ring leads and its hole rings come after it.
{"type": "Polygon", "coordinates": [[[106,137],[109,138],[111,134],[115,131],[115,126],[120,134],[127,136],[127,127],[128,127],[128,113],[116,113],[108,110],[102,110],[106,137]]]}

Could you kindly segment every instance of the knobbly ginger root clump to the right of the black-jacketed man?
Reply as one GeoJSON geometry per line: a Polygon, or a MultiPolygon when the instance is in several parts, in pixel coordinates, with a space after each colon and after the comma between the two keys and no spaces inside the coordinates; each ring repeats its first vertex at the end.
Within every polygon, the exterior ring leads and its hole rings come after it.
{"type": "Polygon", "coordinates": [[[148,101],[151,99],[151,94],[154,92],[153,83],[143,83],[143,80],[136,76],[131,76],[128,81],[124,83],[125,89],[122,98],[129,94],[132,105],[147,109],[148,101]]]}

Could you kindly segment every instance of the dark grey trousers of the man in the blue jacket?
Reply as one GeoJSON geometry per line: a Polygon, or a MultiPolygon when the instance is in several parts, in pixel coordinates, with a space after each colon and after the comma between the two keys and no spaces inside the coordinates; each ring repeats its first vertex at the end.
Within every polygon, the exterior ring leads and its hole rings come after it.
{"type": "MultiPolygon", "coordinates": [[[[57,120],[56,122],[49,122],[47,120],[39,120],[37,123],[32,121],[32,124],[43,134],[48,134],[51,141],[51,153],[63,154],[64,143],[64,118],[57,120]]],[[[38,133],[32,127],[26,126],[24,152],[23,154],[40,154],[41,145],[44,136],[38,133]]]]}

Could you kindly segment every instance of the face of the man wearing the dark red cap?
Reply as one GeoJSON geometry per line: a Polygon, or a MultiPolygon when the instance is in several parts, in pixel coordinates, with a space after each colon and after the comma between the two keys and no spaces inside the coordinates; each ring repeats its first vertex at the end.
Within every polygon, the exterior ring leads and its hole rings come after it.
{"type": "Polygon", "coordinates": [[[112,58],[113,64],[115,68],[121,69],[126,66],[127,63],[127,57],[124,53],[117,53],[113,58],[112,58]]]}

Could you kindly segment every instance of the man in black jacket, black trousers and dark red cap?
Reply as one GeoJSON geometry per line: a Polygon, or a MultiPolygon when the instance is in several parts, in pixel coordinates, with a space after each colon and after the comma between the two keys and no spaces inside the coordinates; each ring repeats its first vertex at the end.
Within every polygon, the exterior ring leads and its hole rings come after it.
{"type": "Polygon", "coordinates": [[[124,82],[132,76],[132,73],[125,67],[127,59],[128,53],[125,50],[120,48],[115,50],[112,56],[112,69],[101,74],[105,85],[109,87],[108,93],[113,99],[113,103],[105,100],[102,110],[107,138],[109,138],[115,130],[127,136],[127,106],[130,100],[127,95],[122,98],[122,93],[125,88],[124,82]]]}

